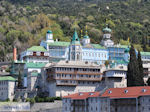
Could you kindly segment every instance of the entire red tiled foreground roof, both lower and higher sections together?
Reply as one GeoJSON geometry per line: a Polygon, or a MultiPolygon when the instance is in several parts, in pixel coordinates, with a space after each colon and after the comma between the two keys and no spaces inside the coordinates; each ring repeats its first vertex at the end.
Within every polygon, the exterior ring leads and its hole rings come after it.
{"type": "Polygon", "coordinates": [[[64,96],[63,98],[87,99],[89,97],[109,97],[111,99],[119,98],[137,98],[140,96],[150,95],[150,86],[126,87],[126,88],[109,88],[104,93],[100,92],[79,92],[64,96]]]}

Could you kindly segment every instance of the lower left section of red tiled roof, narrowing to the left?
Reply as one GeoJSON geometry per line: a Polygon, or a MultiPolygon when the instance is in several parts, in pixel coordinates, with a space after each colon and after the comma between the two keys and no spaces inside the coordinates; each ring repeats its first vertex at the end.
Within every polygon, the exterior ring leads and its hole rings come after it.
{"type": "Polygon", "coordinates": [[[79,92],[68,96],[64,96],[63,98],[80,100],[80,99],[87,99],[88,97],[98,97],[98,96],[100,96],[100,92],[79,92]]]}

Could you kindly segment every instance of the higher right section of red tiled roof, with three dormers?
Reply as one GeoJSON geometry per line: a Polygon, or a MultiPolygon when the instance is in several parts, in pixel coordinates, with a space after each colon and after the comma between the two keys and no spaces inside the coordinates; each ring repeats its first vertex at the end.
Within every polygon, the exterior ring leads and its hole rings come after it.
{"type": "Polygon", "coordinates": [[[150,86],[110,88],[101,97],[109,98],[137,98],[139,96],[150,95],[150,86]]]}

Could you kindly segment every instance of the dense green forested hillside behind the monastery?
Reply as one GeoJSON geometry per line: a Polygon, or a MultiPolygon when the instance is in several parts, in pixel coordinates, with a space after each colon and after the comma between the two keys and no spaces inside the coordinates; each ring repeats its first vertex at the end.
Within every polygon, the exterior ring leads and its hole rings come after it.
{"type": "MultiPolygon", "coordinates": [[[[18,52],[45,39],[48,29],[54,39],[70,41],[74,28],[85,26],[93,43],[102,39],[106,24],[115,43],[150,51],[149,0],[1,0],[0,60],[9,60],[12,48],[18,52]]],[[[82,37],[81,37],[82,38],[82,37]]]]}

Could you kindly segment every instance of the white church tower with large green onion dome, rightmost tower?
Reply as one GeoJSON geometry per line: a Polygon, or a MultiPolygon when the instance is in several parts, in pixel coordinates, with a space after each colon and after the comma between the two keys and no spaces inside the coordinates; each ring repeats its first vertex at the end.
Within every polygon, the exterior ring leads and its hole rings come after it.
{"type": "Polygon", "coordinates": [[[103,39],[100,44],[105,47],[113,46],[114,42],[111,40],[111,29],[106,26],[106,28],[103,29],[103,33],[103,39]]]}

